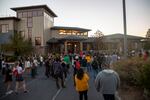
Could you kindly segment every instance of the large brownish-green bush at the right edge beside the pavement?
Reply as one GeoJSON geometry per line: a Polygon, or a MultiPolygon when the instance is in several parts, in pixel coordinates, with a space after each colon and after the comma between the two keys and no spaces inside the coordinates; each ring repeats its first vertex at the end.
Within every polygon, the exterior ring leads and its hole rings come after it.
{"type": "Polygon", "coordinates": [[[122,85],[137,86],[145,89],[150,94],[150,59],[144,61],[139,57],[121,60],[114,65],[122,85]]]}

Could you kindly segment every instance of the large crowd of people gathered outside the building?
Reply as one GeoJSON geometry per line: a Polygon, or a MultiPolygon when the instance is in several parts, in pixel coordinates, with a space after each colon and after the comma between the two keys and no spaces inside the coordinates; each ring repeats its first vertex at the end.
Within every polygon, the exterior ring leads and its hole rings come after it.
{"type": "Polygon", "coordinates": [[[11,84],[15,79],[15,93],[18,94],[19,86],[27,93],[23,74],[26,73],[32,78],[36,78],[37,69],[45,67],[46,78],[52,77],[56,81],[58,89],[67,87],[65,79],[68,75],[73,75],[74,87],[79,93],[79,100],[88,100],[89,79],[93,79],[96,90],[101,92],[104,100],[115,100],[115,93],[119,89],[119,75],[112,69],[112,63],[120,57],[113,53],[106,55],[102,53],[82,54],[47,54],[43,56],[20,57],[13,66],[1,59],[1,68],[4,82],[7,86],[6,94],[12,92],[11,84]],[[73,73],[70,71],[73,69],[73,73]],[[89,75],[91,74],[91,75],[89,75]],[[92,77],[90,77],[92,76],[92,77]]]}

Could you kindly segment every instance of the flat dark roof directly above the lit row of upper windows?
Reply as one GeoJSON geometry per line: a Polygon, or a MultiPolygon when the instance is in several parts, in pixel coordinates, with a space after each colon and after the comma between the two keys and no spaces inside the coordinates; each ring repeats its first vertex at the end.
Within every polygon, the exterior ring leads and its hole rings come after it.
{"type": "Polygon", "coordinates": [[[88,32],[91,31],[90,29],[85,29],[85,28],[79,28],[79,27],[65,27],[65,26],[53,26],[51,27],[52,30],[76,30],[76,31],[81,31],[81,32],[88,32]]]}

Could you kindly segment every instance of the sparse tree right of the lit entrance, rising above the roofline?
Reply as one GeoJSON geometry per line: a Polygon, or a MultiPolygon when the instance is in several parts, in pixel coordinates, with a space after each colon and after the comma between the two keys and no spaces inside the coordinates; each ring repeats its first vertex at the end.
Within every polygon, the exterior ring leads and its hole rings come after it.
{"type": "Polygon", "coordinates": [[[93,37],[95,38],[94,39],[94,43],[93,43],[93,46],[94,46],[94,49],[95,50],[104,50],[105,49],[105,45],[104,45],[104,34],[100,31],[100,30],[97,30],[93,37]]]}

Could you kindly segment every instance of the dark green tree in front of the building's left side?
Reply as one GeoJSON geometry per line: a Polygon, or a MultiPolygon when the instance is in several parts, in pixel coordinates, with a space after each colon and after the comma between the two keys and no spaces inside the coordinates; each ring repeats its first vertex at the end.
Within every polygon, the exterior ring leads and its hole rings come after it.
{"type": "Polygon", "coordinates": [[[32,52],[33,47],[31,40],[25,39],[21,33],[15,32],[10,37],[10,43],[2,45],[2,50],[14,52],[17,57],[32,52]]]}

